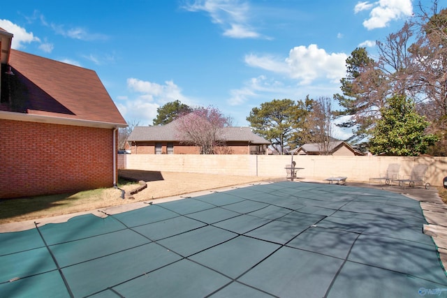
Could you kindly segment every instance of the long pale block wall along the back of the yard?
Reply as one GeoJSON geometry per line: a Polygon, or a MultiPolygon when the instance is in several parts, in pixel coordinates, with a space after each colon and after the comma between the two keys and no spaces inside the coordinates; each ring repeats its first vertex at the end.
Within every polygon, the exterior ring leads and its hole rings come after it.
{"type": "MultiPolygon", "coordinates": [[[[267,155],[145,155],[126,156],[126,168],[167,172],[196,172],[233,174],[242,176],[285,178],[284,167],[290,165],[292,156],[267,155]]],[[[400,176],[409,175],[413,165],[428,165],[427,182],[441,186],[447,176],[445,157],[397,156],[293,156],[296,167],[303,167],[298,177],[305,181],[323,181],[334,176],[348,177],[349,181],[369,182],[380,177],[390,163],[400,163],[400,176]]]]}

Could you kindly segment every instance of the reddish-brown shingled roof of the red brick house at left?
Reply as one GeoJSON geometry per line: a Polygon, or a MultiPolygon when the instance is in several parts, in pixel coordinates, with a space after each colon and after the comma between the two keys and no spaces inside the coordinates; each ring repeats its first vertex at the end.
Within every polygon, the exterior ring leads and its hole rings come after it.
{"type": "Polygon", "coordinates": [[[9,80],[13,105],[3,98],[0,110],[79,125],[127,126],[94,70],[18,50],[10,50],[9,65],[14,75],[2,74],[2,82],[9,80]]]}

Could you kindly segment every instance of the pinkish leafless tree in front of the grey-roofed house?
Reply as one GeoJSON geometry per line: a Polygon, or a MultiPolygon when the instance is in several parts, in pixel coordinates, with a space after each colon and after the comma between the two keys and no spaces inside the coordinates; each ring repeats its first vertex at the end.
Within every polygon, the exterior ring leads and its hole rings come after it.
{"type": "Polygon", "coordinates": [[[221,128],[230,125],[230,118],[223,116],[216,107],[198,107],[189,114],[177,118],[177,137],[184,144],[200,148],[200,154],[217,154],[225,151],[226,141],[221,128]]]}

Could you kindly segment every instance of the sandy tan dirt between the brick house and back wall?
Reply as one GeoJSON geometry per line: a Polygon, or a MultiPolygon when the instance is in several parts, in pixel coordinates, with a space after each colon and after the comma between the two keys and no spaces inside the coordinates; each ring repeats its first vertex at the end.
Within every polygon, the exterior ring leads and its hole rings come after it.
{"type": "MultiPolygon", "coordinates": [[[[184,195],[196,191],[207,191],[227,186],[249,184],[256,181],[274,180],[274,177],[153,172],[141,170],[119,170],[118,174],[120,177],[147,182],[147,188],[132,195],[134,202],[167,198],[175,195],[184,195]]],[[[122,188],[126,193],[130,193],[135,187],[135,185],[131,185],[122,188]]]]}

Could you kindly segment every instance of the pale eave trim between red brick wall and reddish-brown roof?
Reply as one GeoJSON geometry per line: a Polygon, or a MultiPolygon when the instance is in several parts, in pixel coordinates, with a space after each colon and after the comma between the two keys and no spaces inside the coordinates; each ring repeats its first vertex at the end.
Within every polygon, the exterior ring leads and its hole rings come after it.
{"type": "Polygon", "coordinates": [[[109,123],[109,122],[90,121],[84,119],[72,119],[64,117],[50,117],[43,115],[24,114],[24,113],[5,112],[5,111],[0,111],[0,119],[71,125],[71,126],[87,126],[94,128],[124,128],[128,126],[127,124],[122,123],[109,123]]]}

